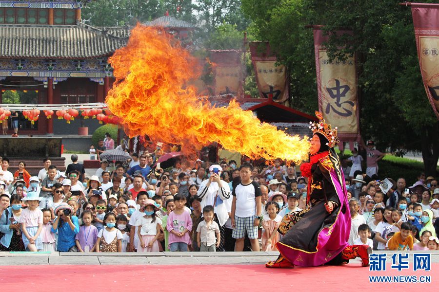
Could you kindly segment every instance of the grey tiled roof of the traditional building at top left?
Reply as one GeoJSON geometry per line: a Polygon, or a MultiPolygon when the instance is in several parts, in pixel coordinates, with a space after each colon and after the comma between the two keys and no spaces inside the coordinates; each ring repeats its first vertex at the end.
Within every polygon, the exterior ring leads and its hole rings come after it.
{"type": "Polygon", "coordinates": [[[78,25],[0,25],[2,58],[95,58],[127,43],[124,34],[78,25]],[[123,37],[118,37],[123,36],[123,37]]]}

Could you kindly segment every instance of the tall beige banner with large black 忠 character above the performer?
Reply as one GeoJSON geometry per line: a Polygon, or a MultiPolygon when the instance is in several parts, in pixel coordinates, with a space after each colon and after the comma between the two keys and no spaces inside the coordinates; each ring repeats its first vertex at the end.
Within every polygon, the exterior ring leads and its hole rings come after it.
{"type": "Polygon", "coordinates": [[[328,37],[323,34],[322,30],[314,29],[319,111],[323,113],[326,123],[338,127],[341,141],[357,141],[359,108],[356,58],[354,55],[347,56],[343,61],[330,61],[322,45],[328,37]]]}

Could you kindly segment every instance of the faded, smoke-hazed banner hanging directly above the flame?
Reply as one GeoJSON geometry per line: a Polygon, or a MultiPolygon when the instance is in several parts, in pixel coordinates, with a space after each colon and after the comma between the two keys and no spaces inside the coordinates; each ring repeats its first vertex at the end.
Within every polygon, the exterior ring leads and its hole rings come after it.
{"type": "Polygon", "coordinates": [[[240,50],[210,51],[214,72],[214,95],[239,96],[243,92],[241,54],[240,50]]]}

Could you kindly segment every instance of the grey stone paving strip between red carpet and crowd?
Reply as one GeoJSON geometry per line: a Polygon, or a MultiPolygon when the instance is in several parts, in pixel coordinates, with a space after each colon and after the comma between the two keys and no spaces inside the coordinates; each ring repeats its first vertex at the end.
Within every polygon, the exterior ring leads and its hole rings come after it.
{"type": "MultiPolygon", "coordinates": [[[[374,252],[383,254],[385,252],[374,252]]],[[[408,252],[409,254],[419,252],[408,252]]],[[[393,252],[387,252],[387,263],[392,262],[393,252]]],[[[0,266],[15,265],[212,265],[212,264],[264,264],[274,260],[277,252],[162,252],[162,253],[7,253],[0,252],[0,266]]],[[[413,261],[413,256],[409,256],[413,261]]],[[[439,263],[439,251],[432,252],[432,263],[439,263]]],[[[351,260],[360,264],[359,259],[351,260]]]]}

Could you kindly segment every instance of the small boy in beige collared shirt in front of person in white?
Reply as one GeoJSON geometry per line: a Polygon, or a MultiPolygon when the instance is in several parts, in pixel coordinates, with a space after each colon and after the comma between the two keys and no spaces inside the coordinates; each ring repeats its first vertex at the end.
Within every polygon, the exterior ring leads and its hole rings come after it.
{"type": "Polygon", "coordinates": [[[203,218],[197,226],[197,244],[200,252],[216,252],[216,247],[220,246],[220,227],[213,220],[214,207],[211,205],[204,206],[203,218]],[[217,235],[217,239],[215,239],[217,235]]]}

